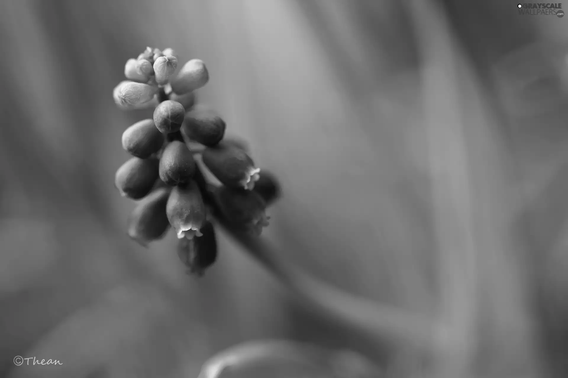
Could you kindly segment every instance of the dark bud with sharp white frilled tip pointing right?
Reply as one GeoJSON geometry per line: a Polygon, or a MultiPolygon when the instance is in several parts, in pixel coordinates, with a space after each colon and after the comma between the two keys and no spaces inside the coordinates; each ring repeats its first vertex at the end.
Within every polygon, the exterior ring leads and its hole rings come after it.
{"type": "Polygon", "coordinates": [[[253,160],[240,148],[207,147],[202,159],[211,173],[229,188],[251,190],[258,180],[260,169],[254,167],[253,160]]]}

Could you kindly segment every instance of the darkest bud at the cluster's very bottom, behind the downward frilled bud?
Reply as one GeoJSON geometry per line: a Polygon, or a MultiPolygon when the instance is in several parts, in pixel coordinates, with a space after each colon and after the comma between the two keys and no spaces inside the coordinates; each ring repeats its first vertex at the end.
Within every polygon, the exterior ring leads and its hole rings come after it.
{"type": "Polygon", "coordinates": [[[205,269],[217,260],[215,228],[210,222],[201,227],[202,236],[183,238],[178,242],[179,260],[189,268],[189,273],[203,275],[205,269]]]}

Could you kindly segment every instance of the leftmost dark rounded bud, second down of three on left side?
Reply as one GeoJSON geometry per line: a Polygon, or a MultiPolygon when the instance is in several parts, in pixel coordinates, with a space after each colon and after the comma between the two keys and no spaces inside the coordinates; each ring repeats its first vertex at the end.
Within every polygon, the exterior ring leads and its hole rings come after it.
{"type": "Polygon", "coordinates": [[[145,197],[158,178],[158,159],[132,158],[122,164],[115,175],[115,185],[123,197],[145,197]]]}

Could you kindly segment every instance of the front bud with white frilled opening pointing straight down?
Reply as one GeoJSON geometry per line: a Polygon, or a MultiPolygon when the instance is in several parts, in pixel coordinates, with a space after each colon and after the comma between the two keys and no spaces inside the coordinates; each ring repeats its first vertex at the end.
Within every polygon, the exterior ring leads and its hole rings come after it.
{"type": "Polygon", "coordinates": [[[201,236],[199,231],[206,220],[205,203],[195,181],[173,188],[166,205],[166,214],[178,239],[201,236]]]}

